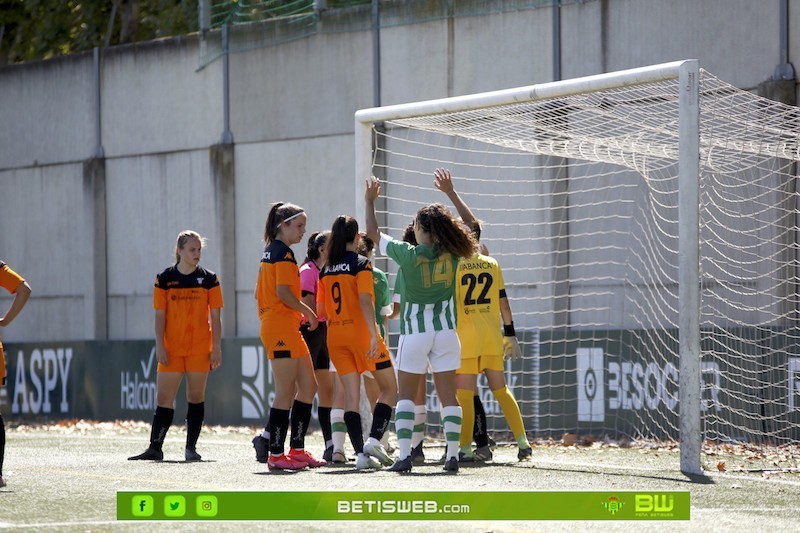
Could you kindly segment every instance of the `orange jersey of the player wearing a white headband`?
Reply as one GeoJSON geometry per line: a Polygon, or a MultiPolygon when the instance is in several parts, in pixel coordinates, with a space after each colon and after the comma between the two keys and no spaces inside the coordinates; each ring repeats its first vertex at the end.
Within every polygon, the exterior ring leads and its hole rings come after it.
{"type": "Polygon", "coordinates": [[[278,285],[287,285],[300,299],[300,269],[292,249],[281,241],[271,242],[264,248],[256,283],[258,317],[276,326],[297,329],[302,314],[278,298],[278,285]]]}

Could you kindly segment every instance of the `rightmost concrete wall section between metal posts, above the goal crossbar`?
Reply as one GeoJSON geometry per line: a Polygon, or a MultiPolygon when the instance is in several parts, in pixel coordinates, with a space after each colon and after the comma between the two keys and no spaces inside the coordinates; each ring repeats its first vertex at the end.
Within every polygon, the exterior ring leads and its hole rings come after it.
{"type": "MultiPolygon", "coordinates": [[[[779,0],[600,0],[567,6],[562,77],[699,59],[717,77],[750,89],[769,78],[779,62],[779,7],[779,0]]],[[[800,12],[790,9],[789,16],[791,32],[800,12]]],[[[789,57],[796,57],[794,40],[790,46],[789,57]]]]}

